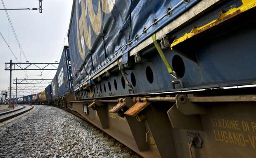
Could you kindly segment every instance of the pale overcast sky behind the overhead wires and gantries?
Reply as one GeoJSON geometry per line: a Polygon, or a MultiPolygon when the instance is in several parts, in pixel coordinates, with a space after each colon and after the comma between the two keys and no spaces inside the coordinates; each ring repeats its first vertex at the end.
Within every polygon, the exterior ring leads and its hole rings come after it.
{"type": "MultiPolygon", "coordinates": [[[[3,0],[3,2],[6,8],[39,7],[38,0],[3,0]]],[[[12,25],[29,62],[59,61],[64,37],[69,27],[72,2],[73,0],[43,0],[42,14],[39,14],[39,10],[8,10],[12,25]]],[[[0,8],[3,8],[1,0],[0,8]]],[[[5,37],[10,48],[19,61],[26,62],[22,54],[20,57],[19,47],[4,10],[0,10],[0,21],[0,32],[5,37]]],[[[67,38],[65,44],[68,45],[67,38]]],[[[9,87],[9,71],[4,70],[4,63],[9,62],[11,59],[13,62],[17,62],[17,60],[15,60],[2,37],[0,37],[0,48],[0,90],[2,91],[9,87]]],[[[52,79],[55,73],[56,71],[44,71],[43,78],[52,79]]],[[[28,77],[26,77],[24,71],[12,71],[12,79],[16,77],[18,79],[42,78],[42,76],[38,76],[40,74],[40,71],[27,71],[28,77]]],[[[36,86],[47,85],[37,84],[36,86]]],[[[13,94],[14,91],[12,96],[13,94]]]]}

